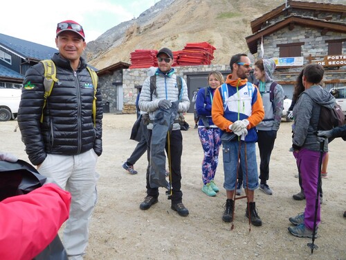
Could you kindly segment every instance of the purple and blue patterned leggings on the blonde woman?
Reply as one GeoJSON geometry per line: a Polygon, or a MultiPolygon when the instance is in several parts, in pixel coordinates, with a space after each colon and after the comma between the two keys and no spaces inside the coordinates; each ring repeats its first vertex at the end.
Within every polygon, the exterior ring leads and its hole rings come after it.
{"type": "Polygon", "coordinates": [[[206,185],[214,180],[219,163],[219,148],[221,146],[221,131],[219,128],[198,128],[199,139],[204,150],[202,161],[202,180],[206,185]]]}

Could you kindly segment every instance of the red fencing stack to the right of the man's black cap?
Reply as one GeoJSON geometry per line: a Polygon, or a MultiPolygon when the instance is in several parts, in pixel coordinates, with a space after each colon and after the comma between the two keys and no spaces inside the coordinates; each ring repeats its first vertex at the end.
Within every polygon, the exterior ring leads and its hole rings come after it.
{"type": "Polygon", "coordinates": [[[208,42],[188,43],[179,51],[179,66],[210,65],[214,59],[215,47],[208,42]]]}

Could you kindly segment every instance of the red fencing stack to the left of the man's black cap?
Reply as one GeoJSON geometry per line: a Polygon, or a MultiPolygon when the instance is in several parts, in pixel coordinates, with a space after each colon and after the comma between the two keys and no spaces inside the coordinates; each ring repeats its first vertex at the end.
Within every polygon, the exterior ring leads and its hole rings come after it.
{"type": "Polygon", "coordinates": [[[156,50],[136,50],[131,52],[130,69],[157,67],[156,50]]]}

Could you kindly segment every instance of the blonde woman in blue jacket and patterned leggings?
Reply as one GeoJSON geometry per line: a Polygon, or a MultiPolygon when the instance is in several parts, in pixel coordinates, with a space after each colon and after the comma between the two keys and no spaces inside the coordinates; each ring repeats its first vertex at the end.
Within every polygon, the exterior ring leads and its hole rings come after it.
{"type": "Polygon", "coordinates": [[[212,98],[215,89],[224,83],[224,76],[219,71],[212,71],[208,76],[208,87],[199,89],[196,98],[196,110],[199,115],[198,134],[201,140],[204,157],[202,161],[202,191],[208,196],[216,196],[219,188],[214,182],[217,164],[219,163],[219,148],[221,146],[221,131],[212,122],[212,98]]]}

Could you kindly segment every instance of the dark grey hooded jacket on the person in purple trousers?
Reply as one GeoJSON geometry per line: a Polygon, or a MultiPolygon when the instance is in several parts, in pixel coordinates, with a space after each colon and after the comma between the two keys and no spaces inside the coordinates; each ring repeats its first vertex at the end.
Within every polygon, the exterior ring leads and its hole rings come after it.
{"type": "MultiPolygon", "coordinates": [[[[306,89],[293,107],[295,118],[293,125],[293,148],[307,148],[309,150],[320,150],[320,142],[317,139],[318,119],[320,118],[320,107],[331,109],[335,98],[326,89],[314,85],[306,89]]],[[[328,142],[325,141],[325,151],[328,150],[328,142]]]]}

